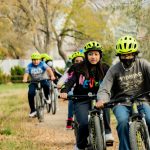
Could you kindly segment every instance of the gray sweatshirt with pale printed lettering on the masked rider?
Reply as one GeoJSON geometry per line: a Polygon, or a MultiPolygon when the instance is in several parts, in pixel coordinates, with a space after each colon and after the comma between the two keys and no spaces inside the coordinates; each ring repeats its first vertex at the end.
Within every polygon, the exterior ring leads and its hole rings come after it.
{"type": "Polygon", "coordinates": [[[101,83],[97,99],[105,102],[130,97],[150,90],[150,63],[136,58],[128,69],[121,62],[111,66],[101,83]]]}

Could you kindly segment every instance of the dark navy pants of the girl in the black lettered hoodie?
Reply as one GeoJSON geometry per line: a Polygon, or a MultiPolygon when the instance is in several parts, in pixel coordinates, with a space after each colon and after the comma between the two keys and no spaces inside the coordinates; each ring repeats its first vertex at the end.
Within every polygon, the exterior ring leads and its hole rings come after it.
{"type": "MultiPolygon", "coordinates": [[[[90,102],[83,101],[74,103],[74,112],[77,122],[79,123],[79,128],[77,131],[77,147],[80,149],[84,149],[88,144],[88,113],[90,108],[90,102]]],[[[104,111],[104,123],[105,132],[111,133],[109,109],[104,111]]]]}

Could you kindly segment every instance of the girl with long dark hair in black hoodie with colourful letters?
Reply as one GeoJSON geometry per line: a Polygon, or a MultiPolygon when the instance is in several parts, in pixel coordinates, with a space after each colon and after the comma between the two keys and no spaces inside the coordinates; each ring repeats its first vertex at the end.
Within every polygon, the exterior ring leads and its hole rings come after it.
{"type": "MultiPolygon", "coordinates": [[[[108,70],[108,65],[101,62],[103,48],[100,43],[91,41],[84,47],[85,60],[74,65],[69,72],[68,81],[62,86],[60,97],[67,98],[67,93],[74,86],[74,95],[87,95],[89,92],[96,94],[99,82],[101,82],[108,70]]],[[[88,146],[88,112],[91,103],[86,99],[74,102],[74,112],[79,123],[76,150],[85,149],[88,146]]],[[[105,132],[113,140],[110,128],[109,110],[104,111],[105,132]]]]}

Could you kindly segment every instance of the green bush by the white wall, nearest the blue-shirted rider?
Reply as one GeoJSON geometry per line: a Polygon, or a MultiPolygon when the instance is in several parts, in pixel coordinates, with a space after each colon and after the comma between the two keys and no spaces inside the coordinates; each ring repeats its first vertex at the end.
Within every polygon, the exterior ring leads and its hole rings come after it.
{"type": "Polygon", "coordinates": [[[20,66],[14,66],[11,68],[11,82],[19,83],[22,82],[25,68],[20,66]]]}

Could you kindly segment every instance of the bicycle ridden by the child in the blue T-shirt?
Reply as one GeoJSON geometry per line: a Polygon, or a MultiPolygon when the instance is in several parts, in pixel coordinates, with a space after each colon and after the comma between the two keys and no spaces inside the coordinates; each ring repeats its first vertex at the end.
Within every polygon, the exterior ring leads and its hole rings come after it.
{"type": "Polygon", "coordinates": [[[37,118],[39,122],[44,121],[44,106],[46,105],[47,109],[49,107],[49,104],[47,103],[47,99],[45,98],[45,95],[44,95],[43,88],[41,86],[41,81],[42,80],[27,82],[27,83],[34,83],[37,85],[36,90],[35,90],[34,102],[35,102],[35,109],[37,112],[37,118]]]}

